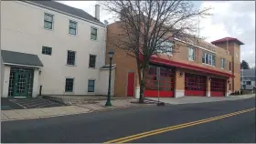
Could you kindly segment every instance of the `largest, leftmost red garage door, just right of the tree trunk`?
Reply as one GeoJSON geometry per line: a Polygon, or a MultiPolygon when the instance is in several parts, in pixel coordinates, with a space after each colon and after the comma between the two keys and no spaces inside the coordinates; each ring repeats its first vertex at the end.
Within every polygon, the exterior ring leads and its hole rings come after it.
{"type": "Polygon", "coordinates": [[[174,97],[174,70],[160,67],[159,87],[156,67],[150,66],[145,76],[144,97],[174,97]]]}

